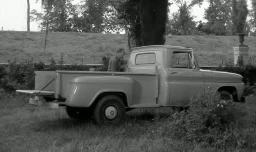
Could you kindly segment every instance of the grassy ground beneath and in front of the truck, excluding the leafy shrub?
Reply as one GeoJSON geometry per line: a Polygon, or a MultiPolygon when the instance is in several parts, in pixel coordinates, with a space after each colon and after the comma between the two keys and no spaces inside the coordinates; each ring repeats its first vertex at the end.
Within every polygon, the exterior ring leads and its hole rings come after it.
{"type": "Polygon", "coordinates": [[[166,135],[172,127],[170,108],[132,110],[120,126],[98,126],[92,120],[68,118],[64,108],[36,107],[27,100],[1,96],[1,152],[216,151],[166,135]]]}

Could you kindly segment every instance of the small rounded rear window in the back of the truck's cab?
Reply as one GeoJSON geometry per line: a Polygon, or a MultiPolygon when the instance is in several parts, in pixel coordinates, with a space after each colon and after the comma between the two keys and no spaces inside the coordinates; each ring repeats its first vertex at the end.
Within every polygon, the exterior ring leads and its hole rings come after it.
{"type": "Polygon", "coordinates": [[[156,63],[156,54],[154,53],[144,53],[137,54],[135,59],[135,64],[154,64],[156,63]]]}

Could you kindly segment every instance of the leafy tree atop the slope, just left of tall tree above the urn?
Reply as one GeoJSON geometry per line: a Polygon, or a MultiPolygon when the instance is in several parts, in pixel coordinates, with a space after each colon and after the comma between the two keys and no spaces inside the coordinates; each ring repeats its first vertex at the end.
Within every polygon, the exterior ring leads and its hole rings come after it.
{"type": "Polygon", "coordinates": [[[209,7],[205,10],[205,32],[214,35],[231,35],[231,0],[208,0],[209,7]]]}

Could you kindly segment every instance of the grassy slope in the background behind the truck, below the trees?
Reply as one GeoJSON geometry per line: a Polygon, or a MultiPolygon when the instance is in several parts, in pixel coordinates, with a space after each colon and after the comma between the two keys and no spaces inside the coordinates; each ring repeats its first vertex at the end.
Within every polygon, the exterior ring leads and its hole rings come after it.
{"type": "MultiPolygon", "coordinates": [[[[256,37],[246,37],[250,54],[256,55],[256,37]]],[[[166,44],[194,48],[200,65],[218,66],[233,62],[233,47],[238,46],[237,36],[166,36],[166,44]]],[[[127,47],[127,37],[122,34],[50,32],[46,51],[44,32],[0,32],[0,62],[19,60],[49,63],[52,58],[64,63],[101,63],[102,56],[111,56],[118,48],[127,47]]]]}

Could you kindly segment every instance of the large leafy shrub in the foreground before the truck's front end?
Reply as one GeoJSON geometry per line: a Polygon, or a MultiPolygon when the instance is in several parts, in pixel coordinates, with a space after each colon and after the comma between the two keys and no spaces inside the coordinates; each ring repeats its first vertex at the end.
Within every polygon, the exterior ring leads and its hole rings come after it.
{"type": "Polygon", "coordinates": [[[255,132],[245,105],[218,100],[210,94],[193,97],[187,112],[176,112],[170,123],[171,136],[216,150],[256,148],[255,132]]]}

